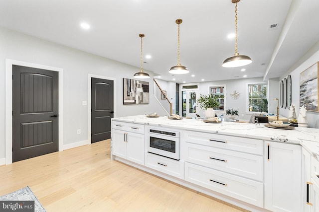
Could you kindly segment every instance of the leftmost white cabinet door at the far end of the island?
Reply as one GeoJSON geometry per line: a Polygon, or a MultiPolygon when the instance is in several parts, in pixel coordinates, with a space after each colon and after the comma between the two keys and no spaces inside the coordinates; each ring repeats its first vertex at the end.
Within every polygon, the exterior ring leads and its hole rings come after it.
{"type": "Polygon", "coordinates": [[[126,158],[126,132],[112,129],[112,153],[126,158]]]}

